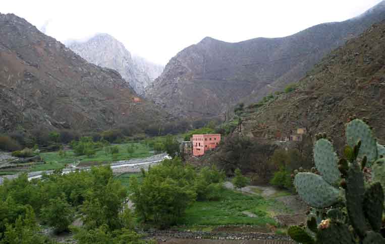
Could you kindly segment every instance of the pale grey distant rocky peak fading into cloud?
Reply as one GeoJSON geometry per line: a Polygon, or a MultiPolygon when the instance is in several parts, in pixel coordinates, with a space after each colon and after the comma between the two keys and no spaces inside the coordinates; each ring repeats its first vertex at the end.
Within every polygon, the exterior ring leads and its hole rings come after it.
{"type": "Polygon", "coordinates": [[[97,34],[85,42],[72,41],[68,47],[88,62],[117,70],[140,95],[163,70],[160,65],[133,57],[123,43],[108,34],[97,34]]]}

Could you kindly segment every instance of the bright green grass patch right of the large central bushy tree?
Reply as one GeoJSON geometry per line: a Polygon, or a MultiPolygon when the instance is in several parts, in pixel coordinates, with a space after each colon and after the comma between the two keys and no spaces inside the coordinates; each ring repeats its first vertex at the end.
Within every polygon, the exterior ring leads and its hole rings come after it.
{"type": "Polygon", "coordinates": [[[276,201],[257,195],[244,195],[233,190],[222,189],[219,201],[195,202],[186,211],[181,222],[183,225],[276,225],[270,216],[270,209],[276,201]],[[257,217],[248,217],[243,211],[249,211],[257,217]]]}

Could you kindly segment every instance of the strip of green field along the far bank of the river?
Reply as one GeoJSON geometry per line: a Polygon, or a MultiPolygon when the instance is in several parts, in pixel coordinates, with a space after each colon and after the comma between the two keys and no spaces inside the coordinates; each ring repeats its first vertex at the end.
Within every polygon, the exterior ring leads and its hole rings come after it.
{"type": "Polygon", "coordinates": [[[118,144],[119,153],[115,154],[114,158],[112,154],[105,153],[103,148],[96,151],[96,154],[88,157],[86,155],[75,155],[72,150],[66,151],[65,156],[61,156],[59,151],[40,153],[40,156],[45,160],[46,164],[34,165],[30,171],[45,171],[45,170],[57,170],[65,168],[67,164],[76,164],[80,166],[98,165],[101,163],[108,163],[112,161],[128,160],[132,158],[142,158],[151,156],[150,147],[141,143],[125,143],[118,144]],[[129,145],[134,145],[134,152],[128,153],[127,148],[129,145]]]}

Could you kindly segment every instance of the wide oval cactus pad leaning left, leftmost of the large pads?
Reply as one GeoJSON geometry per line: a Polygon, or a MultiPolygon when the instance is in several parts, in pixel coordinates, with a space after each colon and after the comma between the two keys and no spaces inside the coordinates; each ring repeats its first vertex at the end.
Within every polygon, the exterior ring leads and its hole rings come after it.
{"type": "Polygon", "coordinates": [[[300,197],[312,207],[329,207],[339,201],[339,190],[319,175],[298,173],[294,178],[294,186],[300,197]]]}

